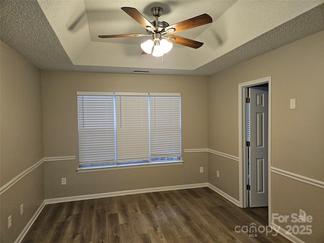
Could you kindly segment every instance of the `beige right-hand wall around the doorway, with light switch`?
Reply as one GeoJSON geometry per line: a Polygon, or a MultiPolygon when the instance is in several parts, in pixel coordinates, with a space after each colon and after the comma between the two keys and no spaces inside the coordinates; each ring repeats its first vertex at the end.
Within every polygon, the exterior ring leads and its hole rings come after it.
{"type": "MultiPolygon", "coordinates": [[[[212,75],[208,83],[208,147],[238,156],[238,84],[272,76],[272,167],[324,181],[323,43],[324,32],[319,32],[212,75]],[[290,109],[292,98],[297,100],[295,110],[290,109]]],[[[233,166],[227,161],[224,166],[225,162],[217,155],[210,156],[209,182],[216,187],[230,183],[232,188],[223,187],[224,192],[238,199],[238,162],[233,166]],[[216,170],[220,178],[216,178],[216,170]]],[[[324,190],[300,183],[272,177],[273,213],[292,214],[302,209],[323,218],[323,203],[317,202],[324,201],[324,190]],[[292,188],[303,189],[289,192],[292,188]],[[309,203],[301,204],[297,198],[309,203]]],[[[323,238],[320,222],[314,221],[317,230],[307,242],[323,238]]]]}

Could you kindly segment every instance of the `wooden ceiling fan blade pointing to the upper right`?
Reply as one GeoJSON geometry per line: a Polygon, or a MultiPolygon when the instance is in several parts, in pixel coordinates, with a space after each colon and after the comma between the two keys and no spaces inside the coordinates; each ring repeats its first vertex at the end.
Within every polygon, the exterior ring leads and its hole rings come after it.
{"type": "Polygon", "coordinates": [[[202,14],[196,17],[193,17],[191,19],[187,19],[184,20],[182,22],[179,22],[177,24],[173,24],[170,25],[168,27],[165,28],[165,31],[168,31],[168,29],[175,29],[175,31],[171,32],[171,33],[177,33],[186,29],[191,29],[200,25],[204,25],[204,24],[209,24],[212,23],[213,19],[211,16],[209,16],[208,14],[202,14]]]}

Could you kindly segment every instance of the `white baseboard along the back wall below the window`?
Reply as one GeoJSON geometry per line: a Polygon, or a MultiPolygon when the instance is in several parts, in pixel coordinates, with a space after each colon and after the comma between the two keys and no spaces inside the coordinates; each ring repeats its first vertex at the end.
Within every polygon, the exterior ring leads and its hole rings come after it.
{"type": "Polygon", "coordinates": [[[77,201],[77,200],[86,200],[86,199],[94,199],[94,198],[101,198],[101,197],[131,195],[131,194],[156,192],[156,191],[170,191],[170,190],[189,189],[189,188],[198,188],[198,187],[207,187],[207,186],[208,183],[198,183],[198,184],[162,186],[162,187],[153,187],[153,188],[126,190],[126,191],[113,191],[113,192],[79,195],[79,196],[67,196],[67,197],[45,199],[45,204],[57,204],[57,203],[64,203],[66,201],[77,201]]]}

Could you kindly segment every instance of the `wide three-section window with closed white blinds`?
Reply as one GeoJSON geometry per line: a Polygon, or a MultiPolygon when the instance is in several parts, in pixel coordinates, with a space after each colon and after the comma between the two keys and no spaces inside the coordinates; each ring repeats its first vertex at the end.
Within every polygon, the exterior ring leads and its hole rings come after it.
{"type": "Polygon", "coordinates": [[[77,92],[79,169],[181,161],[181,96],[77,92]]]}

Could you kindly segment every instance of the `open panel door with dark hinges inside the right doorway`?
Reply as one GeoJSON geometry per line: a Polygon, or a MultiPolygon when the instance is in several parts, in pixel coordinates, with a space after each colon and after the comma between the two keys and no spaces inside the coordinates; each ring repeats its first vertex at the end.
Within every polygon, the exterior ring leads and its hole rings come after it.
{"type": "Polygon", "coordinates": [[[268,87],[249,88],[250,207],[268,206],[268,87]]]}

